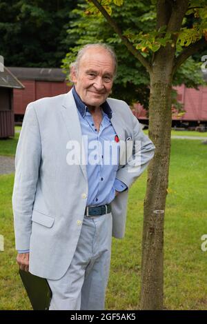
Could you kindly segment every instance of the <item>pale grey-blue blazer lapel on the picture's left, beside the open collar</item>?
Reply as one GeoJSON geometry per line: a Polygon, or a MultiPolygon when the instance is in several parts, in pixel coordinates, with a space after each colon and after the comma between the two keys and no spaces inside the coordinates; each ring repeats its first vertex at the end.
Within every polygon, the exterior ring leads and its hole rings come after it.
{"type": "Polygon", "coordinates": [[[80,154],[80,156],[77,156],[77,159],[79,161],[79,165],[81,167],[83,175],[85,176],[86,181],[88,181],[86,165],[82,163],[83,159],[81,159],[82,161],[80,161],[80,159],[79,159],[82,156],[85,157],[85,151],[84,151],[84,145],[82,143],[81,124],[79,121],[77,106],[75,104],[75,100],[72,95],[72,90],[70,90],[66,94],[65,98],[63,99],[63,103],[61,106],[61,114],[63,117],[63,121],[66,125],[66,128],[68,130],[70,140],[77,141],[77,143],[79,143],[79,145],[80,145],[81,154],[80,154]]]}

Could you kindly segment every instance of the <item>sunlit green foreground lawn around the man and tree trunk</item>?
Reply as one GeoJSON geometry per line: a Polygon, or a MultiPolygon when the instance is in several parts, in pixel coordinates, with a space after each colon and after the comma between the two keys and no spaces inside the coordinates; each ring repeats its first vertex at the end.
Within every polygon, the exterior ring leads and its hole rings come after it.
{"type": "MultiPolygon", "coordinates": [[[[8,143],[11,152],[13,144],[8,143]]],[[[206,149],[201,141],[172,139],[164,234],[164,307],[168,310],[207,309],[207,252],[201,250],[201,236],[207,234],[206,149]]],[[[146,175],[130,190],[125,238],[112,240],[107,310],[139,309],[146,175]]],[[[15,261],[13,181],[13,174],[0,176],[0,234],[5,241],[5,251],[0,252],[0,310],[30,310],[15,261]]]]}

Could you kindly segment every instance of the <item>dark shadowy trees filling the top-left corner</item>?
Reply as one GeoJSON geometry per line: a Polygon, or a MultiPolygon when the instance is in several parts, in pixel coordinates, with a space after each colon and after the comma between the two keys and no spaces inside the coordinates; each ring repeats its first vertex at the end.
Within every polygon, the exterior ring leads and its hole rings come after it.
{"type": "Polygon", "coordinates": [[[68,50],[66,23],[76,5],[72,0],[0,1],[0,54],[5,65],[59,68],[68,50]]]}

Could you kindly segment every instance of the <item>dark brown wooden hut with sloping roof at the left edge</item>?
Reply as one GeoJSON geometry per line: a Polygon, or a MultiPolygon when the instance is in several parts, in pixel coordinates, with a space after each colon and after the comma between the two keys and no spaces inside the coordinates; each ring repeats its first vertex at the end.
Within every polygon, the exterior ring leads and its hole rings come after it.
{"type": "Polygon", "coordinates": [[[23,89],[19,80],[4,67],[0,72],[0,139],[14,136],[13,89],[23,89]]]}

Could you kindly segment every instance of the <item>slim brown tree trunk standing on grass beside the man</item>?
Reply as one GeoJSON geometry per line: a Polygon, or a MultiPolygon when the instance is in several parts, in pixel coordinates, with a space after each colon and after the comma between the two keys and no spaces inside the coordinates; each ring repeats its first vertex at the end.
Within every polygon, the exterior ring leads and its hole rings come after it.
{"type": "Polygon", "coordinates": [[[168,188],[171,132],[172,63],[169,52],[157,54],[150,73],[149,136],[155,156],[148,168],[144,200],[141,261],[141,310],[162,310],[164,295],[164,210],[168,188]],[[163,55],[168,55],[164,64],[163,55]]]}

